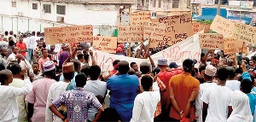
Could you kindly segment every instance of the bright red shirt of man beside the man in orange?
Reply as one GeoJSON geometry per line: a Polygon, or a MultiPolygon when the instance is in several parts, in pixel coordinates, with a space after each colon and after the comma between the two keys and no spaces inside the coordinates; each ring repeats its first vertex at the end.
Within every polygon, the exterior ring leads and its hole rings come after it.
{"type": "MultiPolygon", "coordinates": [[[[172,76],[183,73],[183,69],[181,68],[173,68],[171,71],[164,71],[158,73],[158,78],[166,84],[166,86],[169,86],[169,81],[172,78],[172,76]]],[[[170,93],[169,93],[169,87],[166,87],[165,91],[160,91],[161,96],[161,105],[162,107],[165,107],[166,110],[170,105],[170,93]]]]}

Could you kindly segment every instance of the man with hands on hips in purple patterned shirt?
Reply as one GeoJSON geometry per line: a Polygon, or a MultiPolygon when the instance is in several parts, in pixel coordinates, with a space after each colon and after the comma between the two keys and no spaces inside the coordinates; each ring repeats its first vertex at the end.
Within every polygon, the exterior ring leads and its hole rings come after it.
{"type": "Polygon", "coordinates": [[[86,76],[84,73],[79,73],[76,76],[76,88],[74,90],[67,90],[61,94],[61,96],[56,99],[49,106],[49,109],[55,113],[62,121],[88,121],[88,107],[95,107],[98,110],[96,115],[97,121],[104,108],[102,104],[97,100],[93,93],[84,90],[84,85],[86,84],[86,76]],[[63,116],[59,111],[58,107],[61,105],[67,106],[67,116],[63,116]]]}

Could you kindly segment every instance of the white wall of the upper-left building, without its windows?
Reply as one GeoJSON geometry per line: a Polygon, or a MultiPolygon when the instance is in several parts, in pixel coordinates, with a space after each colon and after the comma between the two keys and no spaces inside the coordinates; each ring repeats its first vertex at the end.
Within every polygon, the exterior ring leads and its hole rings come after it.
{"type": "MultiPolygon", "coordinates": [[[[14,0],[12,0],[14,1],[14,0]]],[[[92,25],[94,34],[112,34],[117,26],[119,8],[114,4],[74,4],[16,0],[16,8],[11,0],[0,0],[0,32],[41,31],[44,27],[92,25]],[[38,9],[32,9],[32,3],[38,3],[38,9]],[[51,14],[44,13],[43,4],[51,5],[51,14]],[[66,15],[56,14],[56,6],[65,5],[66,15]],[[21,13],[21,14],[20,14],[21,13]],[[18,16],[18,15],[21,16],[18,16]],[[64,17],[64,23],[58,23],[57,16],[64,17]]],[[[109,35],[109,36],[110,36],[109,35]]]]}

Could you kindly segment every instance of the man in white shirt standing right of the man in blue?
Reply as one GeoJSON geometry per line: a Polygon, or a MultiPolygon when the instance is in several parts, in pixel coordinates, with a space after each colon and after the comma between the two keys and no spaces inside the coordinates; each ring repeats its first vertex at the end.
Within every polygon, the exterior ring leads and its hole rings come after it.
{"type": "Polygon", "coordinates": [[[142,77],[143,93],[135,98],[131,122],[154,122],[154,112],[160,102],[160,88],[156,82],[153,83],[153,80],[149,75],[142,77]]]}

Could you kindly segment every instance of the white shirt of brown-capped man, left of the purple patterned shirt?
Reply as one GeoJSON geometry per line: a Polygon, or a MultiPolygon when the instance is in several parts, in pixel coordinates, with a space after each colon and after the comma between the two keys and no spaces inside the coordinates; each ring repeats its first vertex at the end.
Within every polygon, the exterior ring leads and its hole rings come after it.
{"type": "Polygon", "coordinates": [[[61,93],[67,89],[67,85],[68,83],[63,81],[50,85],[46,103],[45,122],[62,122],[59,117],[49,110],[49,105],[61,96],[61,93]]]}

